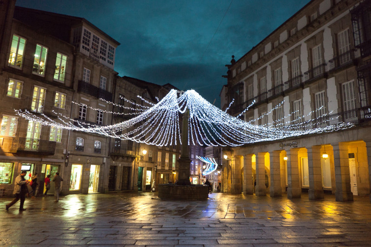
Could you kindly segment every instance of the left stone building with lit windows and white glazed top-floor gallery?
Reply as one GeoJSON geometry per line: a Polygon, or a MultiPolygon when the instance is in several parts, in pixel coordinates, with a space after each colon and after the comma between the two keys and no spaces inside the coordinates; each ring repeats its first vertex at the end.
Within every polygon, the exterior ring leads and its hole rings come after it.
{"type": "Polygon", "coordinates": [[[12,194],[21,170],[39,173],[39,193],[44,177],[56,172],[63,194],[107,192],[109,138],[43,126],[14,109],[77,126],[111,123],[106,101],[115,88],[119,43],[83,18],[16,7],[13,0],[4,6],[0,101],[9,107],[0,109],[2,195],[12,194]]]}

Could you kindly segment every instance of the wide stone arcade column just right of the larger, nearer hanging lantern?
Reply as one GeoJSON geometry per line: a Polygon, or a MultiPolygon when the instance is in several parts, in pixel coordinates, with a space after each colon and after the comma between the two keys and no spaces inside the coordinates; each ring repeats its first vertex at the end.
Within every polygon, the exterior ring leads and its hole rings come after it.
{"type": "Polygon", "coordinates": [[[337,201],[353,200],[353,193],[350,189],[348,145],[339,143],[332,146],[334,147],[335,198],[337,201]]]}

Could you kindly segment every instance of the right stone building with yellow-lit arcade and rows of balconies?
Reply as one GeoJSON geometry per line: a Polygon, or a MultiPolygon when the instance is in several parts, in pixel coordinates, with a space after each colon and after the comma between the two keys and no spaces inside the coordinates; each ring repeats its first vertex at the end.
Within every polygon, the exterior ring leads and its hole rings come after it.
{"type": "Polygon", "coordinates": [[[221,93],[224,105],[235,100],[230,114],[238,116],[255,100],[241,117],[258,125],[354,123],[343,131],[224,150],[231,170],[225,165],[223,178],[231,177],[232,193],[308,193],[310,199],[332,193],[338,201],[370,194],[370,11],[368,0],[311,0],[232,58],[221,93]]]}

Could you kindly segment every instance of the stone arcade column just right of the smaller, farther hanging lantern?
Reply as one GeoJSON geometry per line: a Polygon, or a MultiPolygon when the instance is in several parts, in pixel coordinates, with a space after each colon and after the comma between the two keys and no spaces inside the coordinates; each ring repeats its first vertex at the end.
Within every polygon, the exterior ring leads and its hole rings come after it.
{"type": "Polygon", "coordinates": [[[300,198],[300,176],[299,176],[299,162],[297,158],[296,148],[291,148],[286,151],[287,159],[287,180],[289,187],[287,188],[287,198],[300,198]]]}

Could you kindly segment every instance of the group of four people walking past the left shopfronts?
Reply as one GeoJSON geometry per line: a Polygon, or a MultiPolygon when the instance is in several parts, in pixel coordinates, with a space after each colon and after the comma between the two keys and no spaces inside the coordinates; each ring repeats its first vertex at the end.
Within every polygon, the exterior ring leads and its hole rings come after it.
{"type": "MultiPolygon", "coordinates": [[[[14,180],[14,190],[13,194],[15,195],[15,198],[8,204],[5,205],[6,211],[9,210],[9,208],[16,203],[19,199],[21,199],[21,203],[19,205],[19,211],[24,211],[26,208],[23,207],[26,199],[26,194],[28,193],[27,185],[30,184],[32,188],[32,198],[36,197],[37,190],[38,190],[38,181],[37,181],[37,173],[35,173],[33,176],[31,176],[31,181],[26,180],[27,171],[22,171],[21,174],[19,174],[15,180],[14,180]]],[[[59,201],[59,192],[61,189],[61,182],[63,181],[63,178],[59,176],[59,173],[55,173],[53,182],[55,183],[54,188],[54,196],[55,196],[55,202],[59,201]]],[[[48,190],[50,190],[50,175],[47,175],[47,177],[44,179],[45,182],[45,193],[44,197],[47,196],[48,190]]]]}

